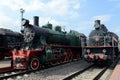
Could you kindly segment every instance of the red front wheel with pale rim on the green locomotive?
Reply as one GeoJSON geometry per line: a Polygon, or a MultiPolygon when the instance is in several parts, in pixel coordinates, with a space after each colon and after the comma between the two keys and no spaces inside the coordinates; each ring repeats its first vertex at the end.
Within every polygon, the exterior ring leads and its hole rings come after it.
{"type": "Polygon", "coordinates": [[[30,61],[30,69],[37,70],[40,67],[40,60],[38,57],[33,57],[30,61]]]}

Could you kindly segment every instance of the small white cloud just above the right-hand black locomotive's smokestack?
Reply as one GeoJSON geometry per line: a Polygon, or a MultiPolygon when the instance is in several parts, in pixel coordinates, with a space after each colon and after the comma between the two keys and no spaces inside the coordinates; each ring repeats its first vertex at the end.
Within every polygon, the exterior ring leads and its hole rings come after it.
{"type": "Polygon", "coordinates": [[[93,20],[101,20],[101,22],[108,22],[111,19],[112,15],[98,15],[93,16],[93,20]]]}

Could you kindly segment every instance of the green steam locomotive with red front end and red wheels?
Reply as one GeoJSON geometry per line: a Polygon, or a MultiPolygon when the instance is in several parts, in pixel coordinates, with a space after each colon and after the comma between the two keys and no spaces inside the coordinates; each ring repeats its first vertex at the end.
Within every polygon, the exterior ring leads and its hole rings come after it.
{"type": "Polygon", "coordinates": [[[37,70],[41,66],[55,65],[73,59],[80,59],[86,36],[74,30],[62,31],[61,26],[52,29],[52,24],[39,27],[39,17],[34,17],[34,25],[23,19],[24,46],[14,50],[13,68],[37,70]]]}

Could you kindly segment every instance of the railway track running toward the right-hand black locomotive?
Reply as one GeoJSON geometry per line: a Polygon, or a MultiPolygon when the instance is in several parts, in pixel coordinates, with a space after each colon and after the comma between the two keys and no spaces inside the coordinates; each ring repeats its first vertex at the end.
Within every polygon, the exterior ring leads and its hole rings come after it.
{"type": "Polygon", "coordinates": [[[72,75],[67,76],[63,80],[84,80],[84,79],[99,80],[108,69],[113,69],[118,61],[119,57],[110,66],[104,66],[98,69],[95,67],[95,65],[89,66],[81,71],[78,71],[72,75]]]}

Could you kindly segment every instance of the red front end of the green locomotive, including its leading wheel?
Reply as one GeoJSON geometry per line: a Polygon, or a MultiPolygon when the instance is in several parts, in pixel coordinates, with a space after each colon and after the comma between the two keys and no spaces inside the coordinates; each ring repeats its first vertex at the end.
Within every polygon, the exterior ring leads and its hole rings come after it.
{"type": "Polygon", "coordinates": [[[42,50],[18,50],[13,51],[13,68],[14,69],[32,69],[36,70],[40,67],[38,53],[42,50]]]}

